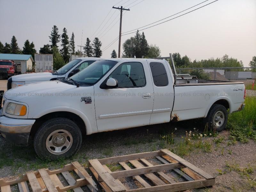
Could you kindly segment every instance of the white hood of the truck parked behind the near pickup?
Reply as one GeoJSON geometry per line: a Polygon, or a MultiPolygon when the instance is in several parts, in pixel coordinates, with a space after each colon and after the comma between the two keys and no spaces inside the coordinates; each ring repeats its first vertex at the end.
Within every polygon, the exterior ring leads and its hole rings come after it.
{"type": "Polygon", "coordinates": [[[52,78],[57,78],[57,75],[52,75],[49,72],[41,73],[26,73],[21,75],[12,76],[12,81],[49,81],[52,78]]]}

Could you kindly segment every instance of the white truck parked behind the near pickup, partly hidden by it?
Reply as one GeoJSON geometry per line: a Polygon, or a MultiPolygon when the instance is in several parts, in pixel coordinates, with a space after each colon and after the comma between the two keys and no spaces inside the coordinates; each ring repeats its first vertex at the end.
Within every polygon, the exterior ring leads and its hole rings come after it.
{"type": "Polygon", "coordinates": [[[91,65],[94,61],[100,60],[100,58],[93,58],[93,57],[85,57],[85,58],[78,58],[70,61],[62,68],[54,71],[53,73],[50,72],[40,72],[40,73],[28,73],[28,74],[21,74],[17,76],[12,76],[7,81],[7,90],[30,83],[37,83],[42,81],[52,81],[57,79],[67,79],[77,72],[85,69],[89,65],[91,65]]]}

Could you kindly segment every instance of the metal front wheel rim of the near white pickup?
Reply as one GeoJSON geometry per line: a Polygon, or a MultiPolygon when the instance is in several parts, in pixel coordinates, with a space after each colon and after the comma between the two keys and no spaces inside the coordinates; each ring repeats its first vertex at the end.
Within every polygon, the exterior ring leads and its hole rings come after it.
{"type": "Polygon", "coordinates": [[[51,132],[46,139],[47,150],[55,155],[66,153],[72,146],[73,137],[65,129],[58,129],[51,132]]]}

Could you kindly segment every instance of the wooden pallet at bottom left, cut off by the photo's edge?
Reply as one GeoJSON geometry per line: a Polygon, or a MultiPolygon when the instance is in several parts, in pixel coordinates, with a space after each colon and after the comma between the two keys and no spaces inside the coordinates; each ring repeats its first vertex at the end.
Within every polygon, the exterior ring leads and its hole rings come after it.
{"type": "Polygon", "coordinates": [[[5,181],[0,179],[1,192],[11,192],[11,185],[16,184],[18,184],[20,192],[29,192],[27,181],[33,192],[62,192],[70,189],[73,189],[75,192],[83,192],[82,186],[87,186],[92,192],[98,190],[92,177],[76,161],[58,170],[39,169],[38,171],[27,172],[17,180],[5,181]],[[76,172],[80,179],[75,180],[69,171],[76,172]],[[69,185],[64,187],[57,174],[62,174],[69,185]]]}

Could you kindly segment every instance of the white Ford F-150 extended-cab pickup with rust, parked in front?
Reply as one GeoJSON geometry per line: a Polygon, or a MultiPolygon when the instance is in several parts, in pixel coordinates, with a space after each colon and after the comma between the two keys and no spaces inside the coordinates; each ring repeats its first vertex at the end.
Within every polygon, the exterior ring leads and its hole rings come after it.
{"type": "Polygon", "coordinates": [[[0,137],[30,137],[39,157],[57,159],[85,134],[195,118],[221,131],[244,108],[244,83],[179,78],[167,60],[104,59],[68,80],[25,84],[4,94],[0,137]]]}

